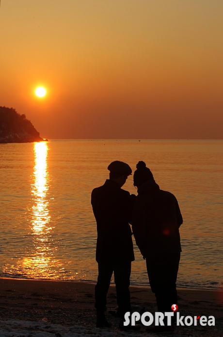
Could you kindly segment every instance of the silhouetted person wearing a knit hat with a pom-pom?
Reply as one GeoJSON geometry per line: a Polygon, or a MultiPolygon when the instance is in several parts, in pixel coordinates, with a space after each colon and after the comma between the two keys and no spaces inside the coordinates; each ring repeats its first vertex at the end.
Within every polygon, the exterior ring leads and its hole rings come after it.
{"type": "MultiPolygon", "coordinates": [[[[132,230],[146,267],[159,312],[172,312],[177,304],[176,278],[180,261],[179,227],[182,215],[175,196],[159,189],[152,172],[139,161],[134,172],[138,188],[132,213],[132,230]]],[[[174,322],[175,318],[172,319],[174,322]]],[[[171,326],[155,326],[148,332],[172,331],[171,326]]]]}

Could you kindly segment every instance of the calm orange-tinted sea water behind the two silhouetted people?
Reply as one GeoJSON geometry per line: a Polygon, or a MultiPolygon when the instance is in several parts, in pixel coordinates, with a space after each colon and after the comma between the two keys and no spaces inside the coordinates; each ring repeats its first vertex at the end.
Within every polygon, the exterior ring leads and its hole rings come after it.
{"type": "MultiPolygon", "coordinates": [[[[96,281],[90,196],[108,164],[144,160],[178,199],[177,285],[223,289],[223,141],[77,141],[0,144],[0,276],[96,281]]],[[[123,187],[137,194],[132,177],[123,187]]],[[[132,284],[148,284],[134,245],[132,284]]]]}

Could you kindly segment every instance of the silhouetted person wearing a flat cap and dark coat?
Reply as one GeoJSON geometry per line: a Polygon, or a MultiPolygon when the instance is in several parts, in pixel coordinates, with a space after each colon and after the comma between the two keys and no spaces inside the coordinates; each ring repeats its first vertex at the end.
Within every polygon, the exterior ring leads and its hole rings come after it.
{"type": "MultiPolygon", "coordinates": [[[[109,166],[110,178],[92,191],[91,203],[97,223],[96,261],[98,278],[95,287],[97,327],[109,327],[105,317],[106,297],[112,273],[119,312],[131,311],[129,278],[134,261],[131,221],[132,202],[129,192],[121,189],[131,175],[130,166],[115,160],[109,166]]],[[[120,323],[122,325],[122,323],[120,323]]]]}

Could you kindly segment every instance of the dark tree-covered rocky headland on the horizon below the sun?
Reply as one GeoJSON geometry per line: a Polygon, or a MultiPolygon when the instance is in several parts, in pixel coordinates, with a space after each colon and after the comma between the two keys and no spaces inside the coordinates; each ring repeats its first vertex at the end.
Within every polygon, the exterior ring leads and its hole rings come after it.
{"type": "Polygon", "coordinates": [[[27,143],[47,141],[39,136],[26,115],[12,107],[0,106],[0,143],[27,143]]]}

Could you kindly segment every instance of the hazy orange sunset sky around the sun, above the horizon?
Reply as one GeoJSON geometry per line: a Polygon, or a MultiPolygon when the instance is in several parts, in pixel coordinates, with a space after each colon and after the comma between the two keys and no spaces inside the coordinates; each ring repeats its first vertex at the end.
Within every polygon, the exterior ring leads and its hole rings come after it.
{"type": "Polygon", "coordinates": [[[223,139],[223,1],[2,0],[0,106],[50,139],[223,139]]]}

